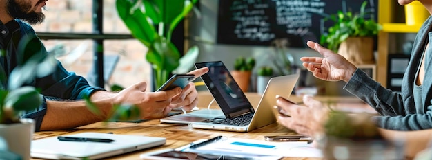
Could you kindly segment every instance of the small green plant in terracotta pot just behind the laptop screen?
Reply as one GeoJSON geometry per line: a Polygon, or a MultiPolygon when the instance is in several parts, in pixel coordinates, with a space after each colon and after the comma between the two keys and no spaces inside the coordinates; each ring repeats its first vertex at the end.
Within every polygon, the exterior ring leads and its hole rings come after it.
{"type": "Polygon", "coordinates": [[[239,56],[235,59],[234,70],[231,71],[231,75],[244,92],[249,89],[253,67],[255,67],[255,58],[253,57],[239,56]]]}

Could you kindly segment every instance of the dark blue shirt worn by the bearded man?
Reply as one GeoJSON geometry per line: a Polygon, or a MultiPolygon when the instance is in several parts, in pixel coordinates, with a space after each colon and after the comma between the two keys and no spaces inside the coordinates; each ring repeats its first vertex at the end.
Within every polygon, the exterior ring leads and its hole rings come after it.
{"type": "MultiPolygon", "coordinates": [[[[9,76],[17,65],[20,65],[29,56],[32,56],[33,52],[48,54],[40,39],[37,38],[35,30],[30,25],[19,19],[6,24],[0,21],[0,53],[2,54],[0,55],[0,69],[3,69],[6,77],[9,76]],[[23,39],[32,39],[32,43],[37,44],[32,45],[30,48],[26,47],[26,53],[30,55],[19,54],[21,52],[17,52],[19,47],[21,47],[20,45],[22,45],[20,42],[23,39]]],[[[0,80],[0,83],[1,87],[6,87],[7,79],[0,80]]],[[[39,108],[21,116],[23,118],[35,119],[35,131],[40,130],[43,116],[46,114],[46,100],[80,100],[84,98],[84,95],[90,96],[95,91],[104,90],[99,87],[91,87],[83,77],[66,71],[59,61],[57,61],[53,73],[42,78],[34,78],[34,80],[26,85],[39,89],[44,98],[44,102],[39,108]]]]}

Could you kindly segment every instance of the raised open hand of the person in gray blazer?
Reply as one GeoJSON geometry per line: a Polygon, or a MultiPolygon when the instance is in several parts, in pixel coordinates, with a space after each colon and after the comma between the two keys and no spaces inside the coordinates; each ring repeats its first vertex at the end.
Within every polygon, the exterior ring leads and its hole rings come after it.
{"type": "Polygon", "coordinates": [[[355,65],[343,56],[335,54],[330,49],[322,47],[313,41],[307,42],[308,47],[319,52],[323,57],[302,57],[303,66],[313,73],[313,76],[322,80],[348,82],[357,69],[355,65]]]}

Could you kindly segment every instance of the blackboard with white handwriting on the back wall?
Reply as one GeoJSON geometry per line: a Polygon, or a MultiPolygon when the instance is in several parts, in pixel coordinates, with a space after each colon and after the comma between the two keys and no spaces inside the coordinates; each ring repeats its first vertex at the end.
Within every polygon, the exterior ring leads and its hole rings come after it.
{"type": "MultiPolygon", "coordinates": [[[[288,47],[319,42],[333,23],[324,21],[338,10],[359,12],[363,0],[219,0],[217,43],[264,45],[287,38],[288,47]]],[[[377,0],[368,0],[366,10],[377,21],[377,0]]]]}

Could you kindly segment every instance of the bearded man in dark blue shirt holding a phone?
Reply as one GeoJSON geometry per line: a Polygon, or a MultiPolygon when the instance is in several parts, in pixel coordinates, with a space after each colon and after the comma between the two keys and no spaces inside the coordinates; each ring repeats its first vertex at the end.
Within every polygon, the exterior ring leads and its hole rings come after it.
{"type": "MultiPolygon", "coordinates": [[[[43,43],[28,24],[42,23],[43,8],[46,0],[0,0],[0,71],[8,77],[13,69],[32,54],[47,54],[43,43]],[[32,41],[32,46],[21,54],[24,40],[32,41]]],[[[191,71],[195,78],[206,73],[208,68],[191,71]]],[[[6,80],[1,80],[1,87],[6,88],[6,80]]],[[[22,117],[35,119],[35,130],[59,130],[75,128],[108,119],[115,104],[134,104],[139,107],[143,119],[160,118],[168,115],[173,108],[183,107],[190,110],[197,104],[197,90],[193,83],[184,89],[179,87],[169,91],[146,92],[146,82],[139,82],[113,93],[99,87],[92,87],[86,79],[68,72],[57,61],[55,71],[42,78],[34,78],[28,84],[36,87],[43,95],[43,104],[35,111],[22,117]],[[82,100],[90,97],[101,111],[95,115],[82,100]]]]}

